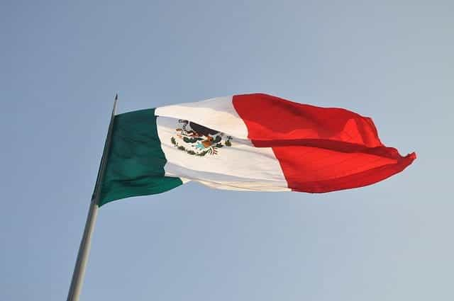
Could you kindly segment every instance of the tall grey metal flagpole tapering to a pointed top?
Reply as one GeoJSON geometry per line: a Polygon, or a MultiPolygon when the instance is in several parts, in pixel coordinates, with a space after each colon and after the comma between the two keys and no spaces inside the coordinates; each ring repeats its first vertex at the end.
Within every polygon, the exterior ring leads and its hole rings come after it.
{"type": "Polygon", "coordinates": [[[92,234],[96,216],[98,215],[98,201],[99,201],[99,184],[104,176],[106,170],[107,152],[109,151],[112,135],[112,127],[114,125],[114,117],[116,113],[116,103],[118,101],[118,94],[115,96],[114,108],[112,108],[111,121],[109,123],[109,130],[107,131],[106,142],[104,143],[104,150],[101,157],[101,164],[99,164],[98,176],[96,178],[96,185],[90,202],[88,211],[87,222],[85,222],[84,234],[79,246],[79,253],[77,254],[74,272],[72,273],[72,280],[70,290],[68,292],[67,301],[78,301],[79,295],[84,283],[85,268],[87,268],[87,261],[90,252],[90,245],[92,244],[92,234]]]}

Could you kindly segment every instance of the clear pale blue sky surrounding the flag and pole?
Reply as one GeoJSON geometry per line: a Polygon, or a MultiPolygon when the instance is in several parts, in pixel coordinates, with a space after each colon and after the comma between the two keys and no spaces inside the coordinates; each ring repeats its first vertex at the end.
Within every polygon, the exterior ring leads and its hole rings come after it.
{"type": "Polygon", "coordinates": [[[263,92],[418,159],[322,195],[196,183],[99,210],[81,300],[454,300],[453,1],[0,2],[0,300],[65,300],[118,113],[263,92]]]}

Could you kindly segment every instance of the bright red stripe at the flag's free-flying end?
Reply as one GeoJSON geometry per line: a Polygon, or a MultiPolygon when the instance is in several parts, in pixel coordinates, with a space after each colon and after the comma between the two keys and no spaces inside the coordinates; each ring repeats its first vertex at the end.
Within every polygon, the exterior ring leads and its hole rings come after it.
{"type": "Polygon", "coordinates": [[[323,193],[367,186],[397,174],[416,155],[385,147],[372,119],[266,94],[233,96],[256,147],[272,147],[289,188],[323,193]]]}

